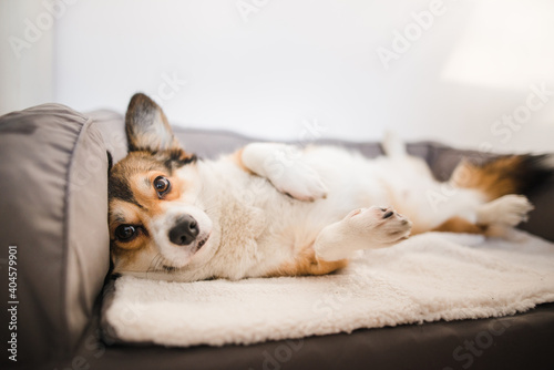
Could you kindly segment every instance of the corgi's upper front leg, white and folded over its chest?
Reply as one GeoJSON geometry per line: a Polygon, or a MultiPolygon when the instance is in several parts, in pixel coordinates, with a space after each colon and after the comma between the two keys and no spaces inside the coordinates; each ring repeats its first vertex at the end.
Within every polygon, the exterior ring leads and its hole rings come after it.
{"type": "Polygon", "coordinates": [[[281,193],[300,201],[325,198],[318,173],[302,160],[300,148],[278,143],[253,143],[238,152],[240,165],[267,178],[281,193]]]}

